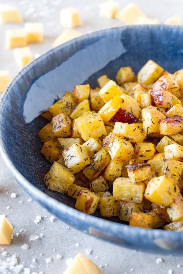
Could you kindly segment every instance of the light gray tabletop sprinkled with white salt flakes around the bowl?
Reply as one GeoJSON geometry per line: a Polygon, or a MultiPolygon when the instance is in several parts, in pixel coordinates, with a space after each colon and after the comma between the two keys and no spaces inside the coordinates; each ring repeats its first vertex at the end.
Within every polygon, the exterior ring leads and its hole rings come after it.
{"type": "MultiPolygon", "coordinates": [[[[30,48],[33,52],[42,54],[51,48],[53,40],[62,32],[63,28],[59,24],[59,11],[63,7],[73,6],[81,11],[83,24],[77,28],[82,33],[94,30],[120,26],[121,23],[115,19],[104,19],[99,17],[99,5],[103,1],[75,1],[75,0],[9,0],[0,3],[10,3],[17,6],[25,22],[43,22],[45,39],[41,44],[32,44],[30,48]]],[[[118,1],[123,7],[130,1],[118,1]]],[[[157,17],[164,22],[170,16],[179,14],[182,17],[183,2],[170,0],[135,1],[147,16],[157,17]]],[[[13,50],[5,50],[5,30],[10,28],[23,27],[23,24],[0,25],[0,69],[9,69],[10,75],[15,75],[19,68],[14,62],[13,50]]],[[[66,269],[65,260],[74,257],[78,252],[86,254],[86,248],[92,248],[91,255],[88,255],[97,265],[102,265],[104,273],[138,273],[138,274],[168,274],[168,269],[173,269],[173,273],[183,273],[183,262],[181,257],[171,257],[171,255],[152,255],[104,242],[91,236],[87,236],[62,221],[55,219],[49,220],[51,216],[45,209],[41,208],[36,202],[27,202],[30,198],[23,188],[15,181],[10,171],[5,166],[0,157],[0,214],[5,214],[14,227],[14,237],[10,246],[0,248],[0,254],[8,251],[9,255],[19,254],[19,263],[25,267],[30,267],[31,272],[43,271],[48,273],[63,273],[66,269]],[[16,193],[16,198],[11,198],[11,193],[16,193]],[[20,203],[20,201],[23,201],[20,203]],[[9,209],[6,207],[10,206],[9,209]],[[34,223],[36,216],[41,215],[42,221],[34,223]],[[45,218],[44,216],[48,216],[45,218]],[[42,230],[41,228],[45,229],[42,230]],[[23,229],[22,232],[20,230],[23,229]],[[19,233],[19,236],[16,236],[19,233]],[[40,235],[43,238],[29,241],[30,234],[40,235]],[[80,244],[78,247],[75,244],[80,244]],[[30,244],[28,250],[22,250],[23,244],[30,244]],[[4,248],[4,249],[3,249],[4,248]],[[53,251],[55,248],[56,251],[53,251]],[[42,256],[39,254],[43,253],[42,256]],[[63,255],[63,258],[56,258],[56,254],[63,255]],[[98,256],[98,258],[95,258],[98,256]],[[53,262],[45,263],[45,258],[52,258],[53,262]],[[36,263],[32,259],[36,258],[36,263]],[[162,258],[163,262],[156,263],[157,258],[162,258]],[[177,264],[181,264],[177,268],[177,264]],[[105,265],[107,264],[107,265],[105,265]],[[31,265],[31,266],[30,266],[31,265]],[[35,267],[33,267],[34,265],[35,267]],[[131,270],[133,269],[133,270],[131,270]]],[[[0,259],[7,257],[0,255],[0,259]]],[[[12,271],[12,273],[14,273],[12,271]]],[[[23,273],[23,272],[22,272],[23,273]]]]}

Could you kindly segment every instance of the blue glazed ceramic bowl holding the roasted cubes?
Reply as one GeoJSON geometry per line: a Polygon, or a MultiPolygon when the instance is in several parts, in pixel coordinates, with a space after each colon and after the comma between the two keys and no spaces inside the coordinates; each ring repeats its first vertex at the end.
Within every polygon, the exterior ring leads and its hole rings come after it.
{"type": "Polygon", "coordinates": [[[118,218],[100,218],[74,209],[74,199],[49,191],[43,175],[50,164],[40,153],[38,131],[46,124],[40,112],[77,84],[97,86],[107,74],[114,79],[121,66],[137,73],[149,59],[175,72],[183,64],[183,28],[127,26],[76,38],[24,67],[9,84],[0,103],[1,153],[23,188],[58,218],[85,233],[128,248],[151,252],[183,252],[183,233],[129,227],[118,218]],[[114,222],[115,221],[115,222],[114,222]]]}

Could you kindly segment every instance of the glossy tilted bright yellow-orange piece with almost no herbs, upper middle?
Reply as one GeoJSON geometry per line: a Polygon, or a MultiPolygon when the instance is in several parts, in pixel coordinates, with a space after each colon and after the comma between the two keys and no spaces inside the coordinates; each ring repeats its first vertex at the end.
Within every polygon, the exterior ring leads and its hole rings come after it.
{"type": "Polygon", "coordinates": [[[104,122],[108,122],[120,109],[123,99],[120,96],[115,96],[107,102],[100,110],[99,114],[104,122]]]}

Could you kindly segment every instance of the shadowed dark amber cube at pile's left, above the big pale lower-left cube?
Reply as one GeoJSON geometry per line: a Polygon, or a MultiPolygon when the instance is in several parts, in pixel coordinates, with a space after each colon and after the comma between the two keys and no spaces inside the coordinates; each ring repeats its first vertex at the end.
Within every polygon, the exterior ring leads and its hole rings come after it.
{"type": "Polygon", "coordinates": [[[53,163],[57,161],[59,158],[62,157],[62,147],[58,141],[58,139],[53,139],[48,142],[45,142],[41,153],[45,156],[45,158],[50,162],[53,163]]]}

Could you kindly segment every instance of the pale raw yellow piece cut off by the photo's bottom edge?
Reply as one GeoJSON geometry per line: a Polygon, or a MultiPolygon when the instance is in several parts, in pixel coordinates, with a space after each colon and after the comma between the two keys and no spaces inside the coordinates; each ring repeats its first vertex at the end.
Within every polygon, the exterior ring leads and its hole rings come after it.
{"type": "Polygon", "coordinates": [[[63,274],[102,274],[102,271],[94,262],[78,253],[63,274]]]}

